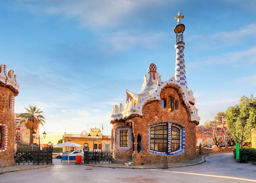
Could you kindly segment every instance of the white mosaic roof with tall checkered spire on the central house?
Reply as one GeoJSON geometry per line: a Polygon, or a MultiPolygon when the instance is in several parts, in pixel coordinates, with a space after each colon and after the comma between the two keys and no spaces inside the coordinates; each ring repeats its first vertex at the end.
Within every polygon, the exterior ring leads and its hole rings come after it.
{"type": "MultiPolygon", "coordinates": [[[[176,89],[178,94],[182,97],[185,106],[187,107],[190,117],[189,121],[199,124],[200,117],[197,114],[198,109],[195,107],[195,98],[193,91],[188,90],[185,72],[185,61],[183,50],[185,43],[183,42],[183,32],[185,25],[181,24],[181,13],[178,13],[178,25],[175,26],[174,32],[176,33],[176,67],[175,76],[168,81],[162,81],[161,75],[157,73],[157,68],[154,63],[148,66],[148,74],[144,75],[144,82],[139,93],[132,93],[126,90],[127,99],[125,105],[115,105],[112,109],[111,121],[126,120],[133,115],[142,116],[143,106],[153,100],[161,100],[161,92],[166,87],[176,89]]],[[[185,132],[184,132],[185,133],[185,132]]],[[[184,142],[182,142],[184,143],[184,142]]]]}

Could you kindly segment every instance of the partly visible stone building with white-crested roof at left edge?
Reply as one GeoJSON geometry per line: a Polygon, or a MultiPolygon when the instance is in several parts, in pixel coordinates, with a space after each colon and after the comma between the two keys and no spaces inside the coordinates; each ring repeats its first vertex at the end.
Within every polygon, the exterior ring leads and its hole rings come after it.
{"type": "Polygon", "coordinates": [[[15,138],[14,97],[19,94],[14,71],[7,72],[7,66],[0,66],[0,167],[13,166],[15,138]]]}

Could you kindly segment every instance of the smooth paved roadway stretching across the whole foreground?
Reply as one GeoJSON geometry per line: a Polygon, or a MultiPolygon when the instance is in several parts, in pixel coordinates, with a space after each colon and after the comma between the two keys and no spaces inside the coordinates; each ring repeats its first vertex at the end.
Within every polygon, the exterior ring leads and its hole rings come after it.
{"type": "MultiPolygon", "coordinates": [[[[246,183],[256,182],[256,166],[251,163],[236,163],[233,153],[212,154],[201,156],[195,160],[183,161],[176,166],[168,164],[169,169],[162,169],[162,164],[128,166],[122,164],[96,164],[92,166],[72,163],[63,163],[60,159],[53,158],[54,166],[37,168],[33,170],[3,173],[0,182],[8,183],[166,183],[166,182],[189,182],[189,183],[246,183]],[[204,160],[205,158],[205,160],[204,160]],[[205,162],[198,164],[200,162],[205,162]],[[195,166],[190,166],[195,165],[195,166]],[[183,167],[177,167],[183,166],[183,167]],[[133,169],[138,168],[138,169],[133,169]],[[150,168],[150,169],[148,169],[150,168]]],[[[30,165],[40,167],[41,165],[30,165]]],[[[14,166],[16,167],[16,166],[14,166]]],[[[12,167],[13,168],[13,167],[12,167]]]]}

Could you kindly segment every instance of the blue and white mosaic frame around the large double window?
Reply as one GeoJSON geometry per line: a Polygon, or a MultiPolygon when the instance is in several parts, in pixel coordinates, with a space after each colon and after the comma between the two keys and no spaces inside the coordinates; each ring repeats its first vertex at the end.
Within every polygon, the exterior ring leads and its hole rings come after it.
{"type": "Polygon", "coordinates": [[[165,155],[165,156],[182,154],[185,152],[185,147],[186,147],[186,145],[185,145],[186,144],[185,143],[186,135],[185,134],[186,134],[185,127],[177,122],[162,121],[162,122],[153,123],[148,126],[148,151],[150,153],[165,155]],[[168,144],[168,152],[164,153],[164,152],[157,152],[157,151],[150,150],[150,128],[155,125],[161,125],[161,124],[166,124],[166,123],[168,124],[168,143],[167,143],[168,144]],[[176,126],[181,130],[180,150],[175,151],[175,152],[171,152],[171,125],[176,126]]]}

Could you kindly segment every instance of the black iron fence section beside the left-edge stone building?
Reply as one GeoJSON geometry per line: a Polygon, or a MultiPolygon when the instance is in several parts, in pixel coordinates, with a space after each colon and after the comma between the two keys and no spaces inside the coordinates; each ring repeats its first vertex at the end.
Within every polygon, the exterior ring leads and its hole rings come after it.
{"type": "Polygon", "coordinates": [[[17,165],[24,164],[52,164],[52,147],[46,150],[14,151],[13,159],[17,165]]]}

